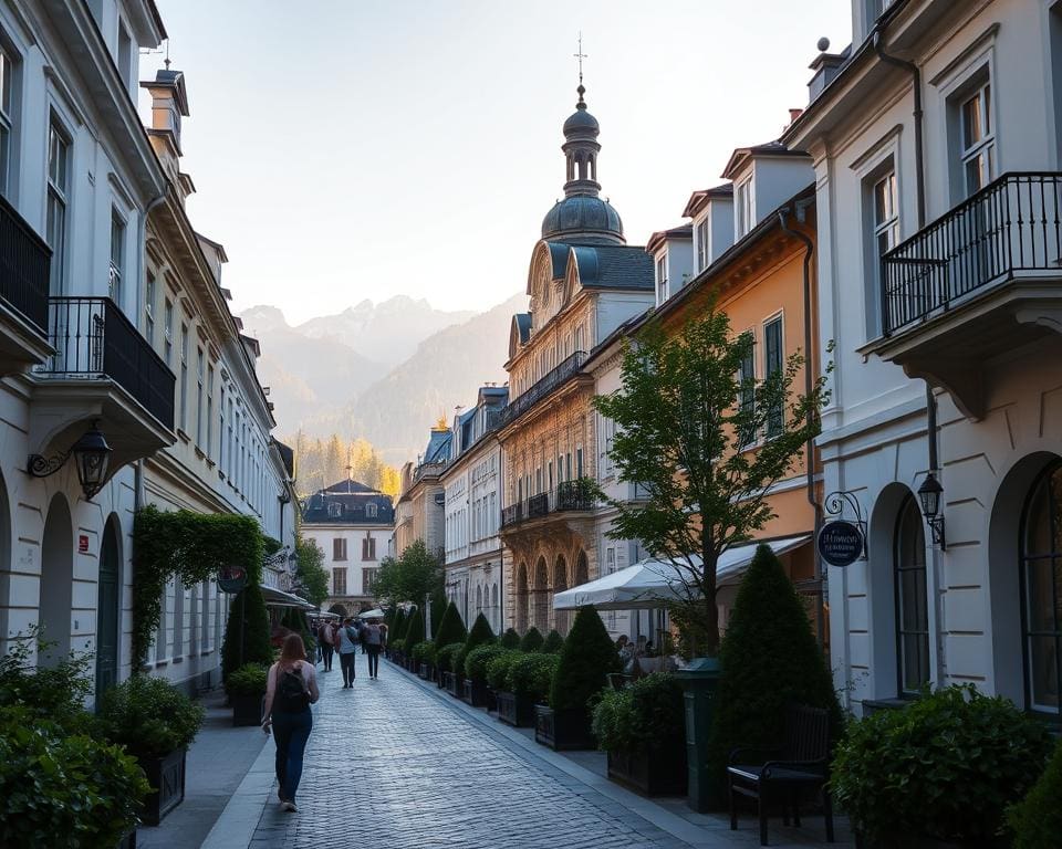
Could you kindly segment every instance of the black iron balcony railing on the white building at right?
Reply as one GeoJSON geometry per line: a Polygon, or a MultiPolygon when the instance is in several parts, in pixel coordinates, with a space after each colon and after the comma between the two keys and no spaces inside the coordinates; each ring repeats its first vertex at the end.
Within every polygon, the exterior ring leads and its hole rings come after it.
{"type": "Polygon", "coordinates": [[[884,334],[1060,258],[1062,174],[1006,174],[882,258],[884,334]]]}

